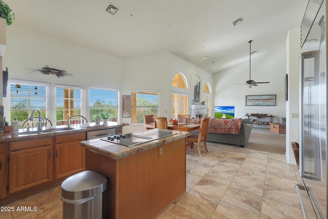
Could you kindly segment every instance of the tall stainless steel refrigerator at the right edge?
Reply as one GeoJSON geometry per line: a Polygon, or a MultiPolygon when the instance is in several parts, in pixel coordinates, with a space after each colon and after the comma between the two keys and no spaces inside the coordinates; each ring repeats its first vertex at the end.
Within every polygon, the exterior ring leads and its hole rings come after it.
{"type": "Polygon", "coordinates": [[[310,0],[301,24],[299,172],[304,218],[327,218],[326,1],[310,0]]]}

